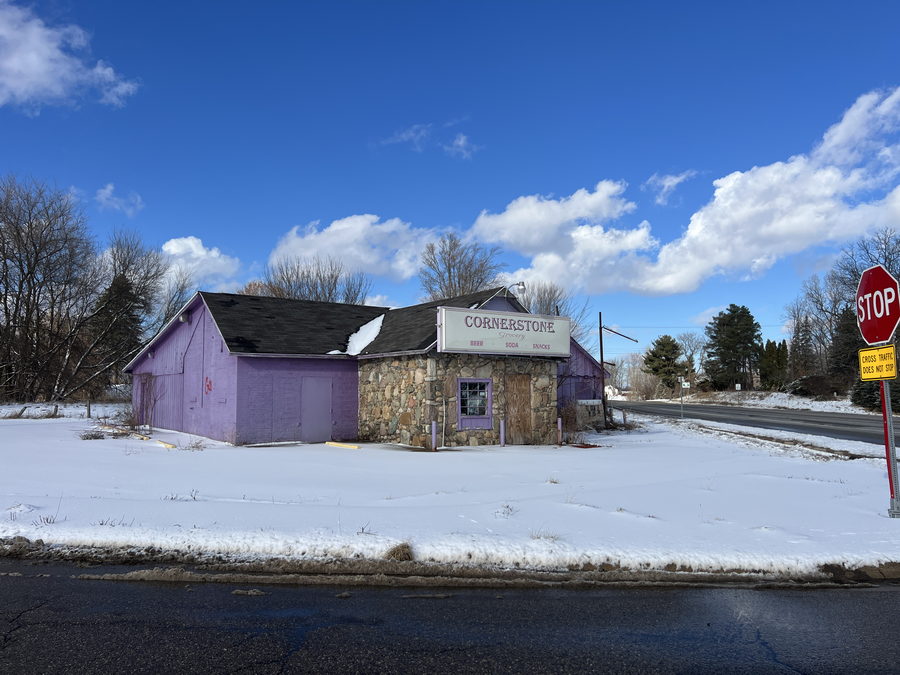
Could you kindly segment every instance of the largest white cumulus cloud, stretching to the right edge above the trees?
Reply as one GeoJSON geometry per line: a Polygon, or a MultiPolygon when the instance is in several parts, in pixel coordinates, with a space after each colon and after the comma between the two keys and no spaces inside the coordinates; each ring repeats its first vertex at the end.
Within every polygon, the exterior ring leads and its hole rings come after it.
{"type": "Polygon", "coordinates": [[[711,200],[662,246],[646,222],[615,228],[580,222],[633,210],[624,185],[609,181],[560,200],[520,197],[501,214],[482,213],[472,232],[531,257],[511,276],[591,293],[667,295],[693,291],[716,275],[752,279],[786,256],[896,226],[898,137],[900,88],[864,94],[808,154],[713,181],[711,200]]]}

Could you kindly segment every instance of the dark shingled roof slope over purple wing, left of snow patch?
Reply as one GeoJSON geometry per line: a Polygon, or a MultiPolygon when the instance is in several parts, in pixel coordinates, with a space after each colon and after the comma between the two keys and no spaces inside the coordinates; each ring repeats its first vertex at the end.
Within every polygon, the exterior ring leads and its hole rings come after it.
{"type": "Polygon", "coordinates": [[[347,339],[387,307],[266,298],[255,295],[200,295],[225,338],[238,354],[327,354],[346,351],[347,339]]]}

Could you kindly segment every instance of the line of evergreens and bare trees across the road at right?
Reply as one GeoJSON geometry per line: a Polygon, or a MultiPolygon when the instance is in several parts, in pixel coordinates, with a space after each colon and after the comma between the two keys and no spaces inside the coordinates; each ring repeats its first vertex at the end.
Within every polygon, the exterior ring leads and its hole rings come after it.
{"type": "Polygon", "coordinates": [[[854,403],[877,407],[878,383],[859,380],[857,352],[866,345],[853,303],[860,275],[878,264],[894,276],[900,273],[900,234],[893,228],[844,247],[827,272],[804,282],[799,296],[785,308],[787,338],[763,343],[750,310],[732,304],[713,317],[702,336],[662,335],[645,354],[619,364],[619,369],[632,375],[646,397],[670,393],[680,386],[679,378],[688,378],[712,390],[741,385],[811,396],[849,393],[854,403]]]}

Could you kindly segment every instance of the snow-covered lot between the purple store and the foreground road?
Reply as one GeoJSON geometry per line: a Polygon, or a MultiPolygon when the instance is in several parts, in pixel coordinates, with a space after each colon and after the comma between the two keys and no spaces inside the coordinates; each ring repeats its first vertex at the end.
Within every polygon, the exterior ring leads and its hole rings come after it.
{"type": "Polygon", "coordinates": [[[873,456],[848,461],[644,421],[587,439],[599,447],[430,453],[175,432],[82,440],[93,423],[0,419],[0,537],[244,560],[381,558],[406,542],[417,560],[540,569],[804,574],[900,561],[881,448],[862,443],[833,442],[873,456]]]}

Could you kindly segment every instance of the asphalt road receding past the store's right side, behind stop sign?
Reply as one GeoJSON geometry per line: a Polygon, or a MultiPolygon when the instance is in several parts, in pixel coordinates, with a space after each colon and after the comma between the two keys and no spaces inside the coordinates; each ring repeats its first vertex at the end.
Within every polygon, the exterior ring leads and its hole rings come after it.
{"type": "MultiPolygon", "coordinates": [[[[610,401],[610,406],[646,415],[681,417],[681,405],[678,403],[610,401]]],[[[865,443],[884,443],[884,426],[880,415],[685,404],[684,417],[865,443]]],[[[900,430],[896,419],[894,427],[895,431],[900,430]]]]}

